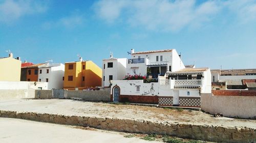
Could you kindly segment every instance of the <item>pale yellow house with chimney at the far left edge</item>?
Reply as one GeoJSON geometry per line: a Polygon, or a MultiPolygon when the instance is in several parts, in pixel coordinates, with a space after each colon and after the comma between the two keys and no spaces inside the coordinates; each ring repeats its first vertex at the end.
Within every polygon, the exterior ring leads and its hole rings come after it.
{"type": "Polygon", "coordinates": [[[22,61],[9,57],[0,58],[0,81],[20,81],[22,61]]]}

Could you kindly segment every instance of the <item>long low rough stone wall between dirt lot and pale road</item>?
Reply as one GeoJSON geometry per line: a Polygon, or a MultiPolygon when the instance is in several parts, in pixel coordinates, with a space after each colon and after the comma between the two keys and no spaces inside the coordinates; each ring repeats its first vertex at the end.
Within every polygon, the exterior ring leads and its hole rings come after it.
{"type": "Polygon", "coordinates": [[[184,138],[222,142],[255,142],[256,129],[230,128],[207,125],[152,122],[145,120],[103,117],[53,115],[48,113],[16,112],[0,110],[0,117],[26,119],[64,125],[90,126],[106,130],[131,133],[156,133],[184,138]]]}

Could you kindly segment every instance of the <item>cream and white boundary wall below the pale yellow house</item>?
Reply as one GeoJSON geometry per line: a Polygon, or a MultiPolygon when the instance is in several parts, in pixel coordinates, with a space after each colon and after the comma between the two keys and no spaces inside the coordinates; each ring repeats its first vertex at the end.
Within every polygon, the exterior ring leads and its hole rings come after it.
{"type": "Polygon", "coordinates": [[[0,100],[34,98],[35,90],[42,88],[47,90],[47,82],[31,81],[0,81],[0,100]]]}

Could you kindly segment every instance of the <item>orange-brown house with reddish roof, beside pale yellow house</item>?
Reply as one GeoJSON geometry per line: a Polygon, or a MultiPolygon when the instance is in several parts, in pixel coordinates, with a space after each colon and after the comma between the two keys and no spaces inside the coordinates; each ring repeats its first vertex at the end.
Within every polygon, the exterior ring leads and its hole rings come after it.
{"type": "Polygon", "coordinates": [[[47,63],[34,64],[31,66],[22,67],[22,75],[20,75],[20,79],[22,81],[38,81],[38,68],[39,66],[47,65],[47,63]],[[26,79],[26,80],[25,80],[26,79]]]}

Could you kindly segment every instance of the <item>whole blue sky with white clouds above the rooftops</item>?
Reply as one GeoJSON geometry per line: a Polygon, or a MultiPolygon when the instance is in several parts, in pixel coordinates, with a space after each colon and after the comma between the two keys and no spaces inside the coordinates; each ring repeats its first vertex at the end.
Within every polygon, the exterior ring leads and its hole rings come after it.
{"type": "Polygon", "coordinates": [[[53,63],[176,49],[183,63],[256,68],[256,1],[3,1],[0,57],[53,63]]]}

